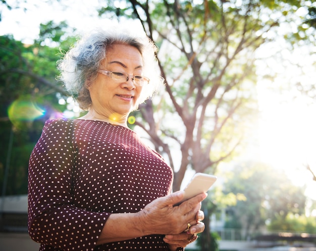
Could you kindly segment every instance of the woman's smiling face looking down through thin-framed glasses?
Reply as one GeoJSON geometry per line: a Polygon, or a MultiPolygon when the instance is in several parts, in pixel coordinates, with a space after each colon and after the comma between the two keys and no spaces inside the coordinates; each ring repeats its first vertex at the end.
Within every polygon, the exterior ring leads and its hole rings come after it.
{"type": "MultiPolygon", "coordinates": [[[[122,71],[129,75],[142,75],[143,60],[137,48],[115,44],[107,49],[106,59],[99,69],[122,71]]],[[[135,107],[142,87],[134,84],[130,76],[127,81],[117,81],[111,76],[97,73],[89,92],[92,109],[99,115],[111,118],[114,114],[127,116],[135,107]]]]}

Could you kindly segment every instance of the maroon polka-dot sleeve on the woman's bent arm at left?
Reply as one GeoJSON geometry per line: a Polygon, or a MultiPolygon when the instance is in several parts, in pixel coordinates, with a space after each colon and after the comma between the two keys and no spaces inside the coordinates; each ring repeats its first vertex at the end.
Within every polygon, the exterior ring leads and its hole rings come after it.
{"type": "Polygon", "coordinates": [[[73,205],[72,120],[48,120],[29,160],[28,230],[31,238],[63,250],[93,250],[109,213],[73,205]]]}

